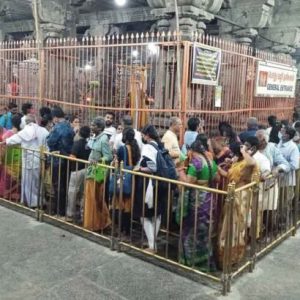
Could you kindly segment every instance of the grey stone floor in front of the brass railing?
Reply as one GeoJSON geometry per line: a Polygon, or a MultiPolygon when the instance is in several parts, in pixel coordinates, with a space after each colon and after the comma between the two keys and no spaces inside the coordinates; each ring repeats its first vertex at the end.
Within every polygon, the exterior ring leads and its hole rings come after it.
{"type": "Polygon", "coordinates": [[[1,300],[300,299],[300,235],[245,274],[227,297],[0,207],[1,300]]]}

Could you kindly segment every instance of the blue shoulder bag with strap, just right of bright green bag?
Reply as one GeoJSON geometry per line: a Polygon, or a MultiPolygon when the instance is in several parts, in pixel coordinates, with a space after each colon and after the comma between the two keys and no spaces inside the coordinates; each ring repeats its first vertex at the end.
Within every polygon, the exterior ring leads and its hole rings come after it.
{"type": "MultiPolygon", "coordinates": [[[[127,146],[124,146],[124,169],[125,170],[133,170],[132,166],[132,156],[131,151],[128,150],[127,146]],[[129,165],[127,164],[127,154],[129,159],[129,165]]],[[[116,194],[120,194],[120,184],[121,184],[121,174],[120,171],[112,174],[109,181],[109,193],[113,195],[116,187],[116,194]]],[[[123,195],[130,196],[132,192],[132,174],[127,172],[123,172],[123,195]]]]}

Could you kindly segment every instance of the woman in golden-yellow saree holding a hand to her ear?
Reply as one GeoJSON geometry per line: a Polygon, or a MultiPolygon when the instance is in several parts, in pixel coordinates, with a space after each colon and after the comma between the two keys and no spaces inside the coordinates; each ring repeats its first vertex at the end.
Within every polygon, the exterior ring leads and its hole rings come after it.
{"type": "MultiPolygon", "coordinates": [[[[235,188],[240,188],[249,184],[253,175],[258,173],[258,167],[253,158],[257,151],[253,147],[246,147],[245,145],[235,144],[231,147],[233,154],[231,166],[228,172],[221,167],[219,171],[228,178],[229,183],[234,183],[235,188]]],[[[249,190],[245,190],[234,199],[233,208],[233,236],[231,248],[231,263],[236,264],[244,257],[246,249],[246,230],[247,230],[247,217],[249,216],[250,203],[249,203],[249,190]]],[[[228,233],[227,223],[229,216],[223,211],[221,230],[218,241],[218,256],[220,267],[223,266],[224,249],[226,243],[226,236],[228,233]]]]}

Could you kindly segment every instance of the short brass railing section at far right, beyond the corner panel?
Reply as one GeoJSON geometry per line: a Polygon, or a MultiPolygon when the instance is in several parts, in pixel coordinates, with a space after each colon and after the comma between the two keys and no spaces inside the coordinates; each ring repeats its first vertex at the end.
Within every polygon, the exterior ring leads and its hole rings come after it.
{"type": "Polygon", "coordinates": [[[259,185],[257,248],[261,256],[297,230],[299,172],[269,176],[259,185]]]}

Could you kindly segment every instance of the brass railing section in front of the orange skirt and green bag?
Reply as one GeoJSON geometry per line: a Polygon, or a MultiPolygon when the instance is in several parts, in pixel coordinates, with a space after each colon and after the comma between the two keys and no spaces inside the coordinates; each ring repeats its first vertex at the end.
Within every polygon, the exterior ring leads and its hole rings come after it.
{"type": "Polygon", "coordinates": [[[112,166],[44,152],[44,217],[111,239],[109,178],[112,166]]]}

